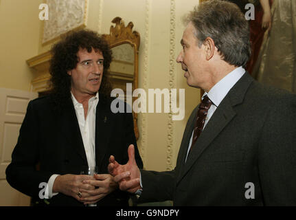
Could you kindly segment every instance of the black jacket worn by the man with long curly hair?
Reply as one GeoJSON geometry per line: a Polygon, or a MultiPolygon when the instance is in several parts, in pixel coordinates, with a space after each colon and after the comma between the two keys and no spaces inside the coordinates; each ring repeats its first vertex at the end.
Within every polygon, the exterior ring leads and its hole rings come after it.
{"type": "MultiPolygon", "coordinates": [[[[110,155],[120,164],[128,161],[127,148],[134,144],[138,166],[143,167],[133,130],[132,113],[112,113],[111,100],[100,96],[95,115],[95,159],[98,173],[108,173],[110,155]]],[[[9,184],[38,199],[39,184],[53,174],[80,174],[87,166],[82,137],[71,98],[61,112],[54,110],[50,97],[32,100],[6,169],[9,184]],[[39,164],[39,170],[36,170],[39,164]]],[[[98,206],[127,206],[128,194],[115,190],[98,202],[98,206]]],[[[59,193],[49,199],[53,206],[83,206],[73,197],[59,193]]]]}

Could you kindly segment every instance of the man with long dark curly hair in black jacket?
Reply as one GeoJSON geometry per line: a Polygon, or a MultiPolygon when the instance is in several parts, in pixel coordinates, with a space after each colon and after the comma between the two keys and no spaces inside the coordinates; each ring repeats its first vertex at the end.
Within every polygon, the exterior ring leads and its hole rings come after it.
{"type": "MultiPolygon", "coordinates": [[[[109,155],[126,163],[128,145],[137,146],[132,113],[111,112],[111,61],[109,45],[90,30],[72,32],[54,45],[51,93],[28,104],[6,170],[12,187],[39,204],[128,205],[128,194],[107,170],[109,155]],[[80,175],[84,166],[100,174],[80,175]]],[[[135,157],[142,167],[137,147],[135,157]]]]}

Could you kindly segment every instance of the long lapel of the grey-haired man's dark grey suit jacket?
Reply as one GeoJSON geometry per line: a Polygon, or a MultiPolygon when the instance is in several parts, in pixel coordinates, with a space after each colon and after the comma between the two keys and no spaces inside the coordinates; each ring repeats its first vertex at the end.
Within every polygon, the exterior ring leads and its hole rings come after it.
{"type": "MultiPolygon", "coordinates": [[[[196,160],[201,156],[203,151],[212,143],[214,138],[219,135],[219,133],[227,126],[227,124],[234,118],[236,115],[236,111],[234,111],[234,106],[242,103],[245,93],[249,88],[249,85],[253,82],[253,78],[249,76],[248,73],[245,73],[238,83],[234,85],[225,96],[223,101],[220,103],[211,119],[205,126],[205,129],[198,137],[198,140],[194,144],[192,151],[187,157],[187,161],[185,164],[181,161],[178,165],[181,165],[180,174],[177,178],[177,184],[182,179],[182,177],[190,170],[196,160]]],[[[196,118],[196,117],[195,117],[196,118]]],[[[194,124],[194,122],[193,122],[194,124]]],[[[192,131],[192,130],[191,130],[192,131]]],[[[190,139],[190,136],[187,137],[190,139]]],[[[185,142],[187,145],[183,146],[183,148],[187,149],[189,140],[185,142]]],[[[182,151],[182,159],[185,160],[187,151],[182,151]]]]}

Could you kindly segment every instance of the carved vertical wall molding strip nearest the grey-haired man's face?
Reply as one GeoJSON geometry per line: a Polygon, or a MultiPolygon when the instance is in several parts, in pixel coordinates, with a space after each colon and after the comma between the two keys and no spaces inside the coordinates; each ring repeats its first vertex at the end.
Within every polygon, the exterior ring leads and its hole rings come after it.
{"type": "MultiPolygon", "coordinates": [[[[170,1],[170,81],[169,87],[170,91],[174,88],[175,85],[175,41],[176,39],[176,1],[170,1]]],[[[172,97],[172,94],[170,93],[172,97]]],[[[172,109],[172,99],[170,99],[170,109],[172,109]]],[[[166,170],[172,170],[174,167],[172,166],[172,156],[173,156],[173,137],[174,137],[174,129],[173,129],[173,121],[172,121],[172,112],[168,114],[168,144],[166,149],[166,170]]]]}

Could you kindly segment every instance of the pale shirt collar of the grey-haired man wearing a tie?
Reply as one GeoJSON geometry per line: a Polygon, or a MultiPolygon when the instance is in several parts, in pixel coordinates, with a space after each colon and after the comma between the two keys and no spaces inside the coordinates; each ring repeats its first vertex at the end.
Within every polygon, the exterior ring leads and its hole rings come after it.
{"type": "Polygon", "coordinates": [[[236,85],[238,80],[244,75],[246,70],[242,67],[238,67],[222,78],[209,92],[203,94],[203,98],[208,96],[216,107],[222,102],[229,90],[236,85]]]}

